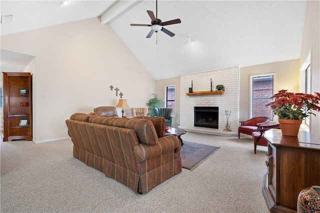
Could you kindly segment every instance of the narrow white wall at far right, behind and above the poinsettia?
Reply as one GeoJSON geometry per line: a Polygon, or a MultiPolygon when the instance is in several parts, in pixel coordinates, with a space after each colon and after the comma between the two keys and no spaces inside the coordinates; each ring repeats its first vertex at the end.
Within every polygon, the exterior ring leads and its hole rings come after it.
{"type": "MultiPolygon", "coordinates": [[[[311,93],[320,92],[320,1],[308,0],[300,54],[300,66],[310,51],[311,93]]],[[[301,80],[303,80],[301,76],[301,80]]],[[[310,116],[309,132],[320,139],[320,113],[310,116]]]]}

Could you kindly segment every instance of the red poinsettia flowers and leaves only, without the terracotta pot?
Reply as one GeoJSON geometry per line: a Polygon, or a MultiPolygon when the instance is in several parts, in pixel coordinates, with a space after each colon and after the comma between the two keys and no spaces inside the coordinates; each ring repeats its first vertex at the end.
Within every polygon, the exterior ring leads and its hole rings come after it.
{"type": "Polygon", "coordinates": [[[280,90],[270,99],[273,102],[268,103],[273,114],[279,119],[302,120],[305,117],[320,112],[320,93],[315,92],[315,95],[305,93],[292,93],[287,90],[280,90]]]}

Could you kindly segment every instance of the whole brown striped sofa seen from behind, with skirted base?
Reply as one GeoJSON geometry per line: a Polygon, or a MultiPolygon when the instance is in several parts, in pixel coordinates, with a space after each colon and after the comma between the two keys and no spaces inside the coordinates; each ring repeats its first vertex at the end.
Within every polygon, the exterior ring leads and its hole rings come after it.
{"type": "Polygon", "coordinates": [[[181,172],[180,143],[165,120],[75,113],[66,120],[73,157],[144,194],[181,172]]]}

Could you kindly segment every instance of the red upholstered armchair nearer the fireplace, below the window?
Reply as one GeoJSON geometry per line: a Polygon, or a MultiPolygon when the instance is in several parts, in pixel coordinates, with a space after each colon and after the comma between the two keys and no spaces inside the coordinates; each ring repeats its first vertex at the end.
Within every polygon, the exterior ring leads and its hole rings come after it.
{"type": "Polygon", "coordinates": [[[253,117],[246,121],[240,121],[241,125],[238,128],[238,138],[240,133],[251,135],[253,131],[257,129],[259,125],[269,125],[270,119],[268,117],[253,117]]]}

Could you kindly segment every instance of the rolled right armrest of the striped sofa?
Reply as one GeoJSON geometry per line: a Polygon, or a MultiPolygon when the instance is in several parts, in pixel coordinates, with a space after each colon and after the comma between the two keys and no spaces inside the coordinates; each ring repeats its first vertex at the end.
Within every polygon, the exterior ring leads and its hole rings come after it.
{"type": "Polygon", "coordinates": [[[141,162],[171,150],[178,152],[181,150],[181,145],[175,136],[168,135],[166,137],[158,138],[158,142],[153,146],[138,144],[137,146],[134,146],[133,152],[137,162],[141,162]]]}

